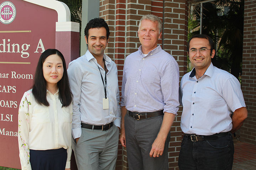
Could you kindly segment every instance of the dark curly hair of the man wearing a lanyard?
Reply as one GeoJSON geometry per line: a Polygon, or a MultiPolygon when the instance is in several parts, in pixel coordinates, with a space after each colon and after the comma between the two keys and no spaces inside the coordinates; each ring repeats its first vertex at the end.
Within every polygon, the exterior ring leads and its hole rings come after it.
{"type": "Polygon", "coordinates": [[[108,24],[106,23],[106,21],[103,18],[91,19],[86,24],[86,27],[85,27],[85,36],[86,36],[86,38],[88,39],[89,29],[91,29],[91,28],[102,28],[102,27],[104,27],[107,31],[107,40],[108,40],[108,37],[110,35],[110,31],[109,31],[109,28],[108,28],[108,24]]]}

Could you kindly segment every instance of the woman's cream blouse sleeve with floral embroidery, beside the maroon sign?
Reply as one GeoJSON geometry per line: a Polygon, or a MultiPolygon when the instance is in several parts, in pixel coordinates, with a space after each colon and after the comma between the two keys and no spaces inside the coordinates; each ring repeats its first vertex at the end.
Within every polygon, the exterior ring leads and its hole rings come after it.
{"type": "Polygon", "coordinates": [[[30,92],[25,92],[18,110],[18,145],[22,170],[31,170],[30,151],[28,146],[28,132],[30,126],[30,114],[28,112],[31,103],[28,100],[30,92]]]}

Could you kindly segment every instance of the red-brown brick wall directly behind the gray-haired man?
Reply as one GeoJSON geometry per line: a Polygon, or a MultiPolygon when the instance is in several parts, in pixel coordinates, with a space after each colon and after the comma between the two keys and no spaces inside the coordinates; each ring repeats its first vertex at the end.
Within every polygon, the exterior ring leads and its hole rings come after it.
{"type": "MultiPolygon", "coordinates": [[[[163,22],[162,48],[175,57],[180,66],[180,77],[187,70],[187,18],[186,0],[101,0],[100,17],[108,23],[111,33],[105,53],[117,64],[121,91],[123,64],[126,56],[140,46],[138,25],[145,14],[154,14],[163,22]]],[[[120,94],[121,96],[121,94],[120,94]]],[[[169,143],[169,169],[177,170],[177,158],[181,143],[181,109],[171,128],[169,143]]],[[[126,149],[119,143],[116,170],[128,169],[126,149]]]]}

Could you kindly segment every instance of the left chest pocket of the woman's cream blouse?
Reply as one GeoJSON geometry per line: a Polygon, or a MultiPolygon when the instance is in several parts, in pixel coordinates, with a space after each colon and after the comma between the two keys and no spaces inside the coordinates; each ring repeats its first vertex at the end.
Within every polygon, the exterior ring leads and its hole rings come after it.
{"type": "Polygon", "coordinates": [[[36,124],[49,123],[49,108],[47,106],[37,106],[34,109],[31,121],[36,124]]]}

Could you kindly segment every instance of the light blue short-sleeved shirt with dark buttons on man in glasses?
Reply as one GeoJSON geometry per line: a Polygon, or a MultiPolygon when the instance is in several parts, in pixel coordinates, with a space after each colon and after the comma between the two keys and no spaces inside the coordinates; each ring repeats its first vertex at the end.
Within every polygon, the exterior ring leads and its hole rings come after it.
{"type": "Polygon", "coordinates": [[[230,131],[230,115],[245,107],[238,79],[212,63],[198,80],[195,73],[193,69],[181,79],[181,130],[185,134],[197,135],[230,131]]]}

